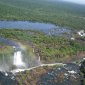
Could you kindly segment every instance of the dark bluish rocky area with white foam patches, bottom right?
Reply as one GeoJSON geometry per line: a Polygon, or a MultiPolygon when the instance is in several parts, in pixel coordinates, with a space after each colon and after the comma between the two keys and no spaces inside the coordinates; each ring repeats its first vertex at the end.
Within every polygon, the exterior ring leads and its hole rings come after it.
{"type": "Polygon", "coordinates": [[[79,67],[67,64],[40,76],[37,85],[80,85],[79,67]]]}

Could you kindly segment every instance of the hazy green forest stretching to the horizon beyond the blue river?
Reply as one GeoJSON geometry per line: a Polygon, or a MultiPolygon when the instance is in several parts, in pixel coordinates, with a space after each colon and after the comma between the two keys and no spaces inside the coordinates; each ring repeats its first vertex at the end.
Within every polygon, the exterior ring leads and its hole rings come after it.
{"type": "Polygon", "coordinates": [[[0,0],[0,20],[30,20],[85,29],[84,8],[59,0],[0,0]]]}

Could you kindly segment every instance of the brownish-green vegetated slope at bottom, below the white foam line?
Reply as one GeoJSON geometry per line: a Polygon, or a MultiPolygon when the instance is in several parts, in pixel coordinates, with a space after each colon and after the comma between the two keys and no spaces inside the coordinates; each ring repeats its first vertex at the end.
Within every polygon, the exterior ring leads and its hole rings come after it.
{"type": "Polygon", "coordinates": [[[52,69],[52,67],[40,67],[31,71],[19,72],[16,75],[17,85],[36,85],[39,76],[52,69]]]}

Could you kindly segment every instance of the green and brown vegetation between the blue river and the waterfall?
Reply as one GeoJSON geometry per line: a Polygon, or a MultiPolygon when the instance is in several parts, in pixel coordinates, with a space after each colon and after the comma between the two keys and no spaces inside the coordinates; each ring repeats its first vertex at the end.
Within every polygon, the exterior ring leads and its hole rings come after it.
{"type": "MultiPolygon", "coordinates": [[[[85,52],[85,43],[59,36],[47,36],[33,30],[0,29],[0,36],[29,43],[43,62],[65,62],[75,60],[77,53],[85,52]]],[[[80,56],[81,57],[81,56],[80,56]]]]}

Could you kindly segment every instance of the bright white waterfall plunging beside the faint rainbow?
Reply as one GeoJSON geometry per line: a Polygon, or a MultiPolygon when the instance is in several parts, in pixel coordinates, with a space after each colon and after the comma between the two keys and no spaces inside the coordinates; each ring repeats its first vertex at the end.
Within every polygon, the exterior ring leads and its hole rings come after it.
{"type": "Polygon", "coordinates": [[[22,60],[22,53],[21,51],[17,51],[14,53],[14,60],[13,60],[13,64],[17,67],[23,66],[25,67],[25,63],[22,60]]]}

